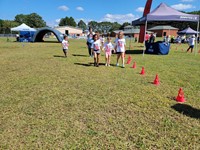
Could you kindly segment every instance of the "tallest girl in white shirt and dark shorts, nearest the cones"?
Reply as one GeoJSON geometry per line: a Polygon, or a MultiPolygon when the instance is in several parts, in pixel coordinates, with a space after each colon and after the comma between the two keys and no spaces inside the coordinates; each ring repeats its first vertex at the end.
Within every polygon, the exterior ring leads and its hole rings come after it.
{"type": "Polygon", "coordinates": [[[125,55],[125,51],[126,51],[126,41],[124,39],[124,34],[121,31],[118,34],[118,39],[116,41],[115,50],[117,52],[117,63],[116,63],[116,66],[119,66],[119,58],[121,57],[121,59],[122,59],[122,68],[125,68],[124,55],[125,55]]]}

